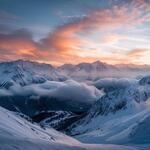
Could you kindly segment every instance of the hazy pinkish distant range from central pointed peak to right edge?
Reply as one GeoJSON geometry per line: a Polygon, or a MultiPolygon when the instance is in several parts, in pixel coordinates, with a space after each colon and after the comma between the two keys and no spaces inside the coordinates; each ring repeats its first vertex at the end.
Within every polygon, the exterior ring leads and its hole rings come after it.
{"type": "Polygon", "coordinates": [[[97,80],[101,77],[137,77],[150,73],[150,66],[138,65],[109,65],[101,61],[80,63],[77,65],[64,64],[58,70],[75,80],[97,80]]]}

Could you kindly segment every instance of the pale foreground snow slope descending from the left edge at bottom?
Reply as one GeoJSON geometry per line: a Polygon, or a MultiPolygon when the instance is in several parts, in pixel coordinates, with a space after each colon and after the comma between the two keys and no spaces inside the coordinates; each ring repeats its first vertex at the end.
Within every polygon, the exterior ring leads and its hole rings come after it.
{"type": "Polygon", "coordinates": [[[16,149],[16,147],[18,147],[17,149],[28,149],[31,144],[33,149],[41,149],[44,144],[44,147],[54,146],[55,149],[56,145],[62,145],[62,148],[65,148],[65,144],[66,146],[80,144],[77,140],[52,128],[43,129],[36,124],[32,124],[2,107],[0,107],[0,132],[0,149],[16,149]],[[36,144],[40,147],[34,148],[36,144]]]}

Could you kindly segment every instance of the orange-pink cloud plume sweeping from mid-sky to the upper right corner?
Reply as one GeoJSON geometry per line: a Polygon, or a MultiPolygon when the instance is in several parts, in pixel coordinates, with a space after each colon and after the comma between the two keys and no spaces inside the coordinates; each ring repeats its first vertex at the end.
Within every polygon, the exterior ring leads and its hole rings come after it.
{"type": "MultiPolygon", "coordinates": [[[[42,40],[46,48],[60,52],[76,53],[76,47],[82,47],[86,43],[79,35],[89,36],[92,31],[134,27],[143,22],[150,21],[150,16],[143,13],[147,8],[144,0],[132,1],[122,6],[113,6],[112,9],[97,9],[91,11],[83,18],[75,19],[58,27],[42,40]],[[131,7],[132,6],[132,7],[131,7]]],[[[115,42],[117,35],[109,35],[103,38],[104,42],[115,42]]]]}

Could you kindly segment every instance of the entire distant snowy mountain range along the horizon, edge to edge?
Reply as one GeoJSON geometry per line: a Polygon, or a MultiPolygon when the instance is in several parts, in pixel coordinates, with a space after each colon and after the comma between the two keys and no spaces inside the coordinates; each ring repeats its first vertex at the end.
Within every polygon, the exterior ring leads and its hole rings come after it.
{"type": "Polygon", "coordinates": [[[21,86],[44,83],[45,81],[97,80],[101,77],[137,77],[150,73],[150,66],[109,65],[100,61],[64,64],[53,67],[50,64],[16,60],[0,63],[0,87],[9,88],[14,83],[21,86]]]}

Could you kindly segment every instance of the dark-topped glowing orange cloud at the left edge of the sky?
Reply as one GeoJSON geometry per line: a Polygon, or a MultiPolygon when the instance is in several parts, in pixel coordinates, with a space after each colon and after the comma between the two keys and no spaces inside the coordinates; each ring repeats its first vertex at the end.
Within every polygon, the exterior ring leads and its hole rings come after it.
{"type": "Polygon", "coordinates": [[[32,35],[24,29],[10,34],[0,34],[0,53],[3,57],[33,57],[36,49],[37,44],[32,40],[32,35]]]}

